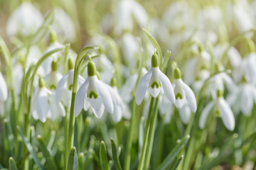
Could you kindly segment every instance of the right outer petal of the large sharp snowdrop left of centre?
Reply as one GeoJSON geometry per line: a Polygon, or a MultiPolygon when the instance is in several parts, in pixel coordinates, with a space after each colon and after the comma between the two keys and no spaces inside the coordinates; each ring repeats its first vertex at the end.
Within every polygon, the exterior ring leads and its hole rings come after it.
{"type": "Polygon", "coordinates": [[[112,97],[110,94],[110,91],[107,89],[107,86],[102,83],[102,81],[99,81],[98,79],[95,79],[95,86],[97,91],[100,94],[100,98],[102,100],[102,103],[104,104],[105,108],[109,113],[113,113],[114,111],[114,105],[112,101],[112,97]]]}

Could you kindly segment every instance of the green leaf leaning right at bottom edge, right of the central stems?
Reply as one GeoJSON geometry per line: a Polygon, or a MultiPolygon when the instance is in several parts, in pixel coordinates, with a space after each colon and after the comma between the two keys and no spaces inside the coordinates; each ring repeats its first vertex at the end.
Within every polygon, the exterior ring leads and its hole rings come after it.
{"type": "MultiPolygon", "coordinates": [[[[164,170],[166,169],[169,165],[171,165],[171,163],[174,161],[174,159],[176,158],[177,154],[181,151],[181,149],[183,149],[183,147],[185,147],[186,142],[188,142],[190,138],[190,135],[186,135],[185,137],[183,137],[182,140],[178,140],[178,145],[176,145],[176,147],[174,147],[174,149],[171,151],[171,153],[168,154],[168,156],[166,157],[166,159],[164,159],[164,162],[162,162],[159,167],[157,168],[157,170],[164,170]]],[[[183,159],[183,158],[182,158],[183,159]]]]}

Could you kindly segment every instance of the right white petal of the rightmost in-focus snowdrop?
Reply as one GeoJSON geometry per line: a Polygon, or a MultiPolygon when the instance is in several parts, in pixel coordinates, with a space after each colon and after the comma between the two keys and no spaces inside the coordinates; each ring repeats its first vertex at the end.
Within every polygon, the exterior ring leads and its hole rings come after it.
{"type": "Polygon", "coordinates": [[[233,131],[235,128],[235,118],[233,112],[224,98],[219,98],[218,100],[223,123],[228,130],[233,131]]]}

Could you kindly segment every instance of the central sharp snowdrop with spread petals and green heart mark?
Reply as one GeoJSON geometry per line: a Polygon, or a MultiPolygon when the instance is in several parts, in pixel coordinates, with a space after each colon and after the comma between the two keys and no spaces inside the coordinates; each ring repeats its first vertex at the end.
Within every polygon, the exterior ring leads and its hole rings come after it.
{"type": "Polygon", "coordinates": [[[156,98],[159,96],[161,89],[164,89],[164,94],[172,103],[175,102],[174,89],[171,82],[164,73],[159,69],[158,56],[156,53],[151,57],[151,69],[139,81],[136,91],[136,103],[140,105],[146,94],[146,89],[149,89],[151,96],[156,98]]]}

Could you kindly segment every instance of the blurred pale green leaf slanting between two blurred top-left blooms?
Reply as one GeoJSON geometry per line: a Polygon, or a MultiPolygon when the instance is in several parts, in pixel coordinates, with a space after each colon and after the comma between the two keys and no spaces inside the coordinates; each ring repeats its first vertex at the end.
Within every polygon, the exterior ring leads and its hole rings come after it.
{"type": "Polygon", "coordinates": [[[46,16],[42,26],[36,31],[31,40],[31,45],[36,44],[39,40],[41,40],[48,31],[48,26],[53,23],[54,19],[54,11],[50,11],[46,16]]]}

